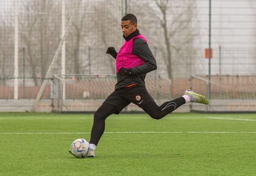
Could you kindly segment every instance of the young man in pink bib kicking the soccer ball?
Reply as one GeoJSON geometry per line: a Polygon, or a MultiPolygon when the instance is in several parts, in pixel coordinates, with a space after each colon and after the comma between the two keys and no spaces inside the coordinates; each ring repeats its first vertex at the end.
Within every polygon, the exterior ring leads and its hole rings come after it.
{"type": "Polygon", "coordinates": [[[149,95],[144,83],[146,73],[157,69],[157,64],[148,47],[146,38],[137,29],[136,16],[132,14],[125,15],[121,21],[121,29],[126,40],[123,46],[118,53],[113,47],[108,47],[106,52],[116,59],[117,83],[115,91],[107,97],[101,107],[94,113],[90,139],[91,151],[88,157],[95,157],[95,149],[104,133],[106,118],[113,113],[118,114],[130,103],[137,104],[157,120],[188,102],[209,103],[205,96],[187,90],[185,95],[180,98],[158,106],[149,95]]]}

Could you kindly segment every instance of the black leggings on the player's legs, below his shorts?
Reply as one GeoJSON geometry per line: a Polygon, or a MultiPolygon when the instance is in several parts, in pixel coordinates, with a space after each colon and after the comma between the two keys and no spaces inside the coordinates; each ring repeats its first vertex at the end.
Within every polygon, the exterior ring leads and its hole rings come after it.
{"type": "MultiPolygon", "coordinates": [[[[161,106],[158,106],[155,102],[152,102],[143,104],[141,108],[152,118],[159,120],[180,107],[182,104],[185,104],[185,99],[180,97],[172,101],[167,101],[161,106]]],[[[93,118],[93,128],[91,129],[91,144],[95,144],[97,146],[105,130],[105,120],[113,113],[118,113],[118,110],[115,106],[108,103],[103,103],[101,107],[96,110],[93,118]]]]}

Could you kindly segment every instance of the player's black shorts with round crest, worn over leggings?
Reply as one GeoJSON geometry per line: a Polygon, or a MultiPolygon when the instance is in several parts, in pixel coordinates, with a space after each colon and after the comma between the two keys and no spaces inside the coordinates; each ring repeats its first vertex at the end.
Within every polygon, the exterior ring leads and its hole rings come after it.
{"type": "Polygon", "coordinates": [[[116,107],[117,113],[120,113],[130,103],[141,107],[144,104],[155,102],[148,90],[142,86],[123,87],[112,92],[104,103],[112,104],[116,107]]]}

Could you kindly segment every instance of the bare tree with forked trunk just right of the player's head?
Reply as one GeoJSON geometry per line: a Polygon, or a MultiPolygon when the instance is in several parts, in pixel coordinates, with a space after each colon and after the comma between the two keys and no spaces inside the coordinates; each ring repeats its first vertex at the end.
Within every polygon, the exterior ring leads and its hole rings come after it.
{"type": "Polygon", "coordinates": [[[154,41],[159,51],[157,62],[163,59],[168,78],[171,81],[176,77],[188,78],[196,54],[193,44],[196,31],[192,24],[196,2],[153,0],[132,1],[129,4],[133,5],[129,8],[130,12],[138,14],[139,21],[143,21],[138,27],[143,29],[148,39],[154,41]],[[180,69],[187,72],[181,75],[180,69]]]}

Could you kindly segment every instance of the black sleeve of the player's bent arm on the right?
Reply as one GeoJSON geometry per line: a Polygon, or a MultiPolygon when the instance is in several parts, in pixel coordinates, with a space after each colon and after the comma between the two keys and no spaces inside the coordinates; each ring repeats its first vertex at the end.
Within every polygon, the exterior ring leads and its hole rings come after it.
{"type": "Polygon", "coordinates": [[[133,40],[132,53],[145,61],[145,64],[132,68],[132,75],[146,74],[157,69],[155,58],[149,49],[148,44],[143,39],[136,38],[133,40]]]}

